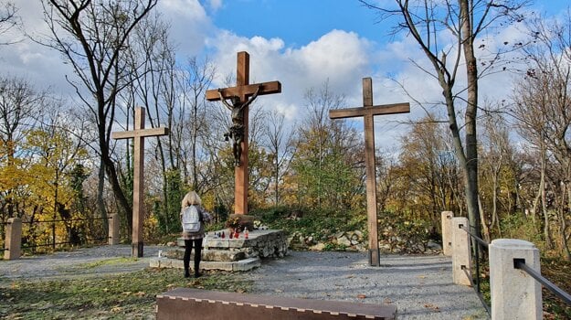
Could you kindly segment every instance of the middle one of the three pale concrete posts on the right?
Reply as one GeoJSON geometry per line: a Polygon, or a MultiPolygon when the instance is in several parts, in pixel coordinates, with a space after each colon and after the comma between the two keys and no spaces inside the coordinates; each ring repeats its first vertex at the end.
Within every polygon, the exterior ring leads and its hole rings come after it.
{"type": "Polygon", "coordinates": [[[452,279],[456,284],[471,285],[464,269],[471,273],[470,229],[468,218],[452,218],[452,279]]]}

